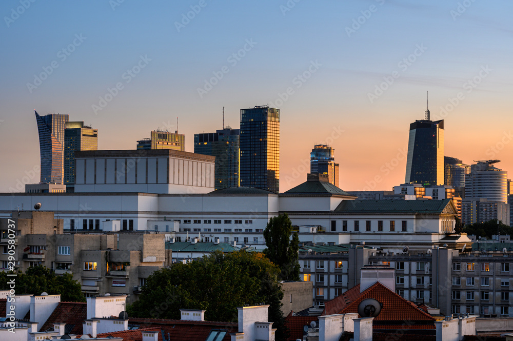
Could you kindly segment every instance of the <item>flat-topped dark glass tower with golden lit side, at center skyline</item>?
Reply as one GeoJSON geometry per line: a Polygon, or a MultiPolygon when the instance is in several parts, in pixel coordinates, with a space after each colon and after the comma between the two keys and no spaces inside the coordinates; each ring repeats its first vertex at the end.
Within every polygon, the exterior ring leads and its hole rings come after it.
{"type": "Polygon", "coordinates": [[[280,191],[280,109],[241,109],[241,186],[280,191]]]}

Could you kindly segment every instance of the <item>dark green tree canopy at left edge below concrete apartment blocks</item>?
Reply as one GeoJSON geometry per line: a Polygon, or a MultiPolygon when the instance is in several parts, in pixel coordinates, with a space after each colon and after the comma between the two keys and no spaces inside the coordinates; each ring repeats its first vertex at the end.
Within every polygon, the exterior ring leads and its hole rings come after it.
{"type": "Polygon", "coordinates": [[[30,267],[25,273],[18,271],[16,277],[8,277],[8,273],[14,272],[0,272],[2,290],[9,290],[8,281],[15,278],[16,294],[40,295],[47,292],[49,295],[61,294],[61,302],[86,302],[80,283],[70,273],[57,276],[42,265],[30,267]]]}

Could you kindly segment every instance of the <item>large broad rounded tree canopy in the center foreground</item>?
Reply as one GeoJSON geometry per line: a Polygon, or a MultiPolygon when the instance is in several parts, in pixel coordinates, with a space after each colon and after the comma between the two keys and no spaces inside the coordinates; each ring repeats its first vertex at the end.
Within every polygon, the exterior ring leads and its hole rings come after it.
{"type": "Polygon", "coordinates": [[[180,309],[204,309],[207,320],[236,322],[237,307],[265,303],[277,339],[285,339],[278,273],[262,253],[216,251],[153,272],[127,311],[134,317],[180,319],[180,309]]]}

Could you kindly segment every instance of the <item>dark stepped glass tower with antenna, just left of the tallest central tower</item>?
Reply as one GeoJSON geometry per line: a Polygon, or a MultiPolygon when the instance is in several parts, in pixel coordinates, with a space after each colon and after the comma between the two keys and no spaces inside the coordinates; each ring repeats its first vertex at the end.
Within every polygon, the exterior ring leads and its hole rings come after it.
{"type": "Polygon", "coordinates": [[[239,136],[240,129],[231,127],[194,134],[194,153],[215,156],[214,189],[239,187],[239,136]]]}

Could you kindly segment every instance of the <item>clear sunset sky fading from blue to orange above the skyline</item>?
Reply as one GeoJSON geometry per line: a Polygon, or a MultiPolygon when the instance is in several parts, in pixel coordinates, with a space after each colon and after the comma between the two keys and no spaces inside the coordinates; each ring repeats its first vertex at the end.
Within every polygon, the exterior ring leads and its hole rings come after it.
{"type": "MultiPolygon", "coordinates": [[[[445,152],[513,172],[513,2],[0,2],[0,192],[40,179],[34,109],[135,149],[157,128],[240,126],[280,109],[280,191],[329,144],[346,191],[404,183],[409,124],[445,120],[445,152]]],[[[510,177],[510,176],[509,176],[510,177]]]]}

